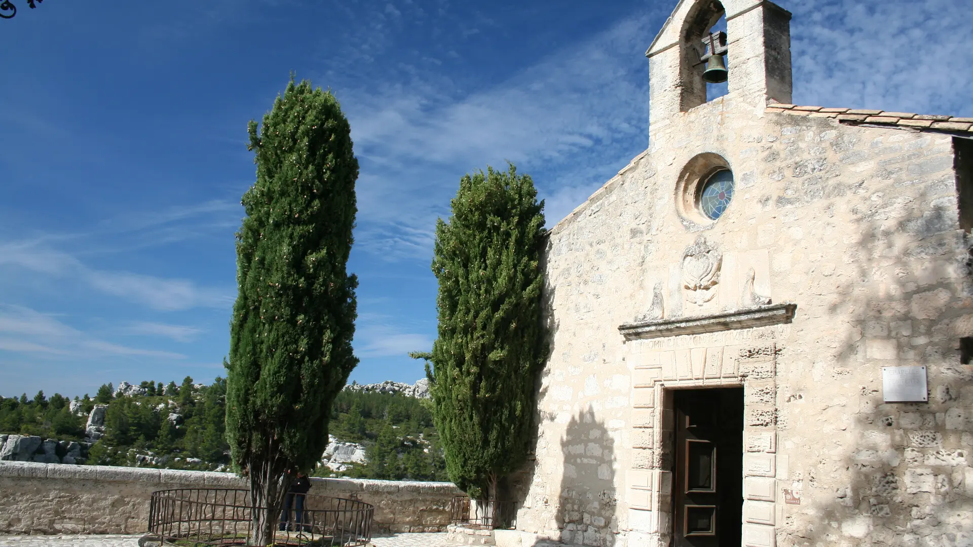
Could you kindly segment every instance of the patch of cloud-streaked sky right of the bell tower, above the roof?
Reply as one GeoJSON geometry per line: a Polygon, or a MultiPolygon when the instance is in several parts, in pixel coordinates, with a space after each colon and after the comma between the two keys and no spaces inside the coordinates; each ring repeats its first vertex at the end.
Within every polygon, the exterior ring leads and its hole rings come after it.
{"type": "Polygon", "coordinates": [[[969,72],[958,68],[969,55],[957,26],[969,20],[968,3],[828,0],[785,7],[794,13],[800,104],[973,115],[969,72]]]}

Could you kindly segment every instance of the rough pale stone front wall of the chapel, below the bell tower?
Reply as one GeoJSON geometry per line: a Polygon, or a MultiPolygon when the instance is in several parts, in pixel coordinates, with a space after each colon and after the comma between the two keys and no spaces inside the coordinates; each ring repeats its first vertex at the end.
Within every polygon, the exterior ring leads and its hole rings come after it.
{"type": "Polygon", "coordinates": [[[659,393],[710,382],[746,387],[746,544],[967,544],[973,367],[958,347],[973,336],[973,285],[953,137],[765,114],[733,93],[661,126],[552,231],[552,352],[519,528],[666,544],[659,393]],[[703,153],[725,159],[737,185],[711,225],[676,210],[682,169],[703,153]],[[698,237],[722,253],[702,306],[681,266],[698,237]],[[654,297],[671,318],[746,308],[755,295],[795,303],[793,323],[627,344],[618,331],[654,297]],[[737,368],[740,352],[771,345],[773,382],[759,386],[737,368]],[[920,364],[930,401],[884,404],[882,367],[920,364]],[[707,381],[711,365],[730,373],[707,381]]]}

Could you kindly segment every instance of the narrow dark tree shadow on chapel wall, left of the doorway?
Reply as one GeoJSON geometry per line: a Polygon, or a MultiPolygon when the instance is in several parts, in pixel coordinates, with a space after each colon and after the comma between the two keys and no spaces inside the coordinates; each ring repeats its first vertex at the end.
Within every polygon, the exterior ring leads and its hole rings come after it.
{"type": "Polygon", "coordinates": [[[618,522],[615,506],[615,439],[589,408],[567,423],[560,441],[558,526],[561,542],[610,547],[618,522]]]}

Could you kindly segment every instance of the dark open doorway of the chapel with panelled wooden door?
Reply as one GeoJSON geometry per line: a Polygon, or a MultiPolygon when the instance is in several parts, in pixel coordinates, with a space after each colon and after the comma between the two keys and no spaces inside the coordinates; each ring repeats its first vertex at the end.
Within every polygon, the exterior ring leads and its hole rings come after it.
{"type": "Polygon", "coordinates": [[[743,388],[678,389],[673,395],[674,547],[736,547],[743,511],[743,388]]]}

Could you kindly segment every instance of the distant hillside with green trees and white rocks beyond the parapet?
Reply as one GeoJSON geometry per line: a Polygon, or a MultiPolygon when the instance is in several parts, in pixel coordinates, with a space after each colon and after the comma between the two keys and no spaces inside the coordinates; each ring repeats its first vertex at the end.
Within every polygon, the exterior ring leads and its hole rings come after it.
{"type": "MultiPolygon", "coordinates": [[[[440,480],[428,381],[352,383],[335,401],[315,475],[440,480]]],[[[95,397],[0,397],[0,459],[225,470],[226,382],[122,382],[95,397]]]]}

